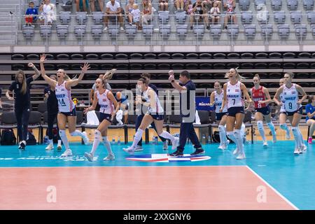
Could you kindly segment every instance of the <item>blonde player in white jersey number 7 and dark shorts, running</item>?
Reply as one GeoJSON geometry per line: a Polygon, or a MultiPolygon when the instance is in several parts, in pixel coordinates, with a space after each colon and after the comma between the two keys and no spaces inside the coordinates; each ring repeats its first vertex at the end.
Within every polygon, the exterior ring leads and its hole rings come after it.
{"type": "Polygon", "coordinates": [[[233,155],[237,155],[237,160],[244,160],[246,155],[244,152],[243,137],[241,136],[241,124],[244,120],[242,92],[249,105],[252,104],[252,101],[246,86],[240,82],[243,77],[239,75],[237,69],[230,69],[225,77],[229,78],[229,81],[223,85],[223,104],[220,112],[223,112],[225,105],[228,106],[226,133],[228,137],[237,144],[233,155]],[[235,131],[233,132],[234,129],[235,131]]]}

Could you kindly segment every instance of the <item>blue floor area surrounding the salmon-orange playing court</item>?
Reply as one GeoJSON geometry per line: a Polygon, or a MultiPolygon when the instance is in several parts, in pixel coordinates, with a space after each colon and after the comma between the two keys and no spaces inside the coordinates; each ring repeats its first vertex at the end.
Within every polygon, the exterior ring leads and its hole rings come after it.
{"type": "MultiPolygon", "coordinates": [[[[306,153],[293,155],[294,141],[278,141],[263,148],[261,141],[246,144],[246,160],[236,160],[232,155],[235,144],[226,151],[218,150],[218,144],[204,145],[205,155],[210,160],[197,162],[137,162],[126,160],[124,144],[113,145],[115,161],[104,162],[106,150],[102,144],[96,152],[96,161],[88,162],[83,154],[92,146],[70,143],[73,156],[60,158],[61,152],[45,151],[45,145],[27,146],[19,151],[18,146],[0,146],[0,167],[145,167],[145,166],[248,166],[270,186],[286,197],[298,209],[315,209],[315,146],[308,145],[306,153]]],[[[64,151],[64,150],[62,150],[64,151]]],[[[162,150],[162,144],[145,145],[144,151],[135,155],[169,153],[162,150]]],[[[193,152],[191,144],[186,145],[184,153],[193,152]]],[[[0,169],[1,171],[1,169],[0,169]]]]}

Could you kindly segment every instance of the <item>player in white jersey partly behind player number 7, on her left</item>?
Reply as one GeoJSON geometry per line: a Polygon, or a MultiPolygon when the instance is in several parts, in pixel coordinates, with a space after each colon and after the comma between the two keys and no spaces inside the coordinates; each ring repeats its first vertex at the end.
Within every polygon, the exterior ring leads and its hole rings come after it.
{"type": "Polygon", "coordinates": [[[210,95],[210,106],[216,105],[216,122],[218,123],[218,129],[220,134],[220,146],[218,146],[218,149],[225,150],[228,148],[228,144],[230,141],[226,137],[226,130],[225,130],[225,123],[228,109],[225,106],[223,111],[220,112],[221,106],[223,102],[223,90],[221,87],[221,83],[219,81],[216,81],[214,83],[214,92],[211,92],[210,95]]]}

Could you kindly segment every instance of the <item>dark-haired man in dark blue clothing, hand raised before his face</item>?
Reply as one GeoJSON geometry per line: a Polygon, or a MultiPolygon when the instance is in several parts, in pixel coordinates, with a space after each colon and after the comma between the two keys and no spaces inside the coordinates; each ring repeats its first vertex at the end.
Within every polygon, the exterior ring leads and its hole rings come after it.
{"type": "Polygon", "coordinates": [[[171,156],[182,156],[186,145],[187,138],[193,143],[196,151],[190,155],[204,153],[200,141],[195,132],[193,123],[195,122],[195,84],[190,80],[190,73],[182,71],[179,75],[179,81],[176,82],[174,72],[169,71],[169,80],[172,86],[180,92],[180,111],[181,111],[181,128],[179,133],[179,146],[177,150],[170,154],[171,156]]]}

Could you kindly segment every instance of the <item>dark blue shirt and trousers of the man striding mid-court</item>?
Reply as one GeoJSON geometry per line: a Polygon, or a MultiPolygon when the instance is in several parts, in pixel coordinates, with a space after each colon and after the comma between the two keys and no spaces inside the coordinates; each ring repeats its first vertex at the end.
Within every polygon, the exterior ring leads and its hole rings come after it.
{"type": "MultiPolygon", "coordinates": [[[[182,85],[182,84],[181,84],[182,85]]],[[[195,94],[191,95],[192,99],[190,99],[190,94],[192,94],[190,91],[196,90],[195,84],[193,83],[192,80],[189,80],[185,85],[187,89],[186,91],[181,92],[181,127],[180,127],[180,132],[179,132],[179,146],[177,146],[177,150],[183,152],[184,147],[186,145],[187,138],[190,139],[192,144],[194,145],[195,148],[202,148],[200,145],[200,141],[197,137],[197,134],[195,132],[193,123],[195,122],[195,115],[193,116],[193,120],[189,120],[190,113],[185,113],[183,114],[183,109],[186,109],[187,105],[187,110],[190,108],[194,109],[195,113],[195,94]],[[183,103],[184,101],[187,102],[187,104],[183,103]],[[183,107],[182,107],[183,106],[183,107]]]]}

